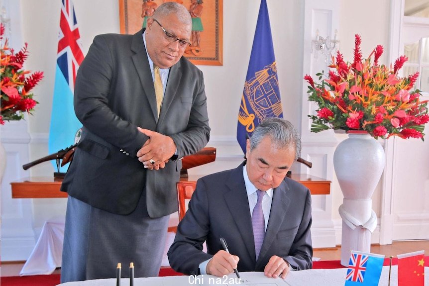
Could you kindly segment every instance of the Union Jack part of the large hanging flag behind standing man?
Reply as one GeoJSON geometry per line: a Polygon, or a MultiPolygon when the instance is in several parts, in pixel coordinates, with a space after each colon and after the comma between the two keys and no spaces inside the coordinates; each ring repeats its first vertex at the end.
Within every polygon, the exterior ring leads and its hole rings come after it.
{"type": "Polygon", "coordinates": [[[72,0],[62,0],[57,64],[70,90],[75,87],[76,73],[84,54],[72,0]]]}

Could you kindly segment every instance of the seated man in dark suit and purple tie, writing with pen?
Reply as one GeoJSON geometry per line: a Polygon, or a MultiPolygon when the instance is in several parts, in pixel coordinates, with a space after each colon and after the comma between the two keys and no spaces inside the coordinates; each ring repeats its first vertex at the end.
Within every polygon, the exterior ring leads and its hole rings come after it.
{"type": "Polygon", "coordinates": [[[167,254],[171,267],[219,277],[237,268],[283,279],[291,268],[310,269],[311,193],[286,177],[300,152],[300,135],[289,121],[264,120],[247,139],[246,161],[198,180],[167,254]]]}

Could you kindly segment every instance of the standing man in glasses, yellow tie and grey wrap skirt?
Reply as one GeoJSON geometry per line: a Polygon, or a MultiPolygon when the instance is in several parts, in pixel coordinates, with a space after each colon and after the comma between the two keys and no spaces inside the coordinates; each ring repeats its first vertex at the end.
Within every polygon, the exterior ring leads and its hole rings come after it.
{"type": "Polygon", "coordinates": [[[95,37],[80,66],[74,103],[84,127],[61,187],[62,283],[115,277],[119,262],[133,262],[136,277],[158,275],[178,158],[210,136],[203,74],[182,57],[191,27],[183,5],[164,3],[134,35],[95,37]]]}

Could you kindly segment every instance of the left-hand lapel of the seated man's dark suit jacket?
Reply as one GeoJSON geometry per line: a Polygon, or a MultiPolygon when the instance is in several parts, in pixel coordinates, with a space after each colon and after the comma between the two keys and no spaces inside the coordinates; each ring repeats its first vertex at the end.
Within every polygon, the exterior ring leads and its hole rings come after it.
{"type": "Polygon", "coordinates": [[[234,218],[235,225],[240,232],[243,245],[246,246],[249,257],[253,259],[253,264],[255,264],[255,242],[253,239],[249,200],[247,198],[246,186],[243,179],[243,164],[235,169],[234,173],[226,182],[226,186],[229,190],[224,192],[223,197],[234,218]]]}

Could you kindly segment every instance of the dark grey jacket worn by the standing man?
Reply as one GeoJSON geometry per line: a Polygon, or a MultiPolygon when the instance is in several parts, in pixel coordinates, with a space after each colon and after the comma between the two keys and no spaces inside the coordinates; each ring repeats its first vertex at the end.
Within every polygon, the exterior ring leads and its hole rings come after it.
{"type": "Polygon", "coordinates": [[[61,191],[117,214],[131,213],[145,190],[150,217],[177,210],[182,162],[143,168],[136,153],[148,137],[137,126],[173,138],[178,158],[196,153],[210,137],[203,73],[185,57],[171,67],[157,118],[155,90],[142,38],[105,34],[79,68],[75,112],[84,125],[61,191]]]}

